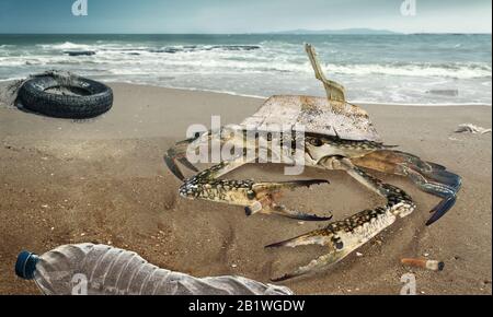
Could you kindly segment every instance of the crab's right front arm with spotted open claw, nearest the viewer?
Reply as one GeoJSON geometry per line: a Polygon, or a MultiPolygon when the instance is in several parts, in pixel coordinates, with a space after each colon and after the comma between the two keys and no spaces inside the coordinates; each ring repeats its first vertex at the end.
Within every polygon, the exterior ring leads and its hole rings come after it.
{"type": "Polygon", "coordinates": [[[325,228],[266,246],[267,248],[297,247],[316,244],[329,248],[328,254],[312,260],[306,266],[299,267],[291,273],[273,279],[273,281],[287,280],[324,269],[339,262],[381,231],[390,226],[398,216],[403,218],[415,209],[411,197],[403,190],[371,177],[364,171],[353,166],[347,158],[340,158],[330,163],[332,164],[332,168],[345,169],[358,181],[387,198],[388,202],[385,207],[364,210],[343,221],[333,222],[325,228]]]}

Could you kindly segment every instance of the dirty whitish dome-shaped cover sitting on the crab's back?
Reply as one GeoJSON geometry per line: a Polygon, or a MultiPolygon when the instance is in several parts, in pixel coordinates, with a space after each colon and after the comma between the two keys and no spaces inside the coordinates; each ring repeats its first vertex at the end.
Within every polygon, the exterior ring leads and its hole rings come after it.
{"type": "Polygon", "coordinates": [[[266,131],[273,127],[285,129],[301,125],[306,132],[339,136],[347,140],[381,141],[363,108],[348,103],[329,102],[324,97],[272,96],[241,125],[248,129],[266,131]]]}

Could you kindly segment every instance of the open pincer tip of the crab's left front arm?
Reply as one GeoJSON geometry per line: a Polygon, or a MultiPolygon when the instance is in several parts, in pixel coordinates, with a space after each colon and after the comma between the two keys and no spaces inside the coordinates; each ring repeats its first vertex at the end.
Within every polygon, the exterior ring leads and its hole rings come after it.
{"type": "Polygon", "coordinates": [[[332,219],[329,216],[319,216],[316,214],[308,214],[302,211],[291,210],[284,204],[276,203],[276,199],[280,197],[282,189],[295,189],[297,187],[310,187],[312,185],[328,184],[325,179],[310,179],[310,180],[294,180],[283,183],[261,183],[253,186],[253,192],[255,195],[254,203],[245,207],[244,211],[246,215],[252,215],[257,212],[274,213],[284,215],[291,219],[298,219],[303,221],[328,221],[332,219]]]}

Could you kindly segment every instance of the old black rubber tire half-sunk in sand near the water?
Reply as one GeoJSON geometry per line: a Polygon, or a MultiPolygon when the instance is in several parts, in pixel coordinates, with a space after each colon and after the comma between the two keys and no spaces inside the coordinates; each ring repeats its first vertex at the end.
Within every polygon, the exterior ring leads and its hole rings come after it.
{"type": "Polygon", "coordinates": [[[113,91],[108,86],[81,77],[70,78],[70,81],[60,81],[54,75],[36,77],[22,85],[18,97],[23,108],[57,118],[92,118],[113,105],[113,91]],[[77,93],[47,92],[60,87],[77,93]]]}

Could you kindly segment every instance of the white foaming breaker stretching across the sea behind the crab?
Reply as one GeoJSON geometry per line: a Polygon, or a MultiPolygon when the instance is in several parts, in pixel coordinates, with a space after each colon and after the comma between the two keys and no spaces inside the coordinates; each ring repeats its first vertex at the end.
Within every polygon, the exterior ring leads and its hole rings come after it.
{"type": "MultiPolygon", "coordinates": [[[[104,66],[111,70],[112,66],[134,68],[138,66],[150,72],[288,72],[309,74],[312,68],[308,61],[298,62],[285,57],[266,58],[261,56],[242,56],[228,52],[191,51],[190,54],[171,54],[167,58],[157,58],[159,52],[126,50],[94,51],[94,50],[64,50],[60,55],[35,55],[0,57],[2,66],[21,64],[82,64],[92,63],[104,66]]],[[[328,74],[369,77],[386,75],[400,78],[442,78],[442,79],[480,79],[491,78],[492,67],[486,63],[363,63],[363,64],[323,64],[328,74]]]]}

